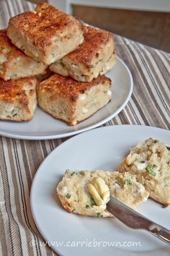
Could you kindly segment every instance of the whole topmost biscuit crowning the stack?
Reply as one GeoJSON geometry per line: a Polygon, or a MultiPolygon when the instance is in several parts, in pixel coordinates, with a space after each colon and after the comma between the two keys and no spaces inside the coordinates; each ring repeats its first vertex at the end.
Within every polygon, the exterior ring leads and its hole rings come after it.
{"type": "Polygon", "coordinates": [[[25,54],[48,65],[84,40],[81,22],[47,3],[37,5],[35,12],[12,17],[7,34],[25,54]]]}

